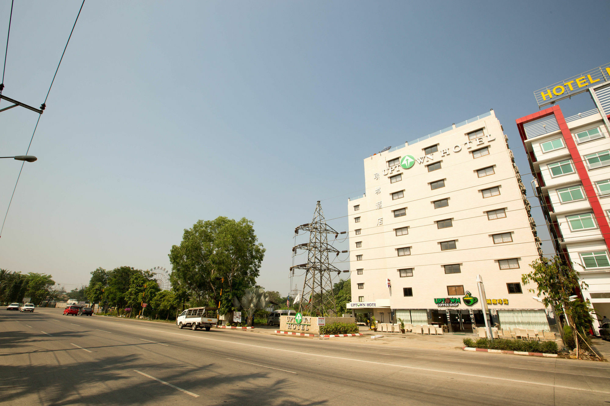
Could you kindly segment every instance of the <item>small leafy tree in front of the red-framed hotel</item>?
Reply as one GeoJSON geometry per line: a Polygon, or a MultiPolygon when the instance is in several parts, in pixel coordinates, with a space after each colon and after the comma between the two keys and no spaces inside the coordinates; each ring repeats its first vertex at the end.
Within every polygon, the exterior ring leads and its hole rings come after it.
{"type": "MultiPolygon", "coordinates": [[[[579,273],[570,266],[570,263],[565,262],[558,256],[552,259],[537,259],[529,266],[533,271],[522,275],[523,285],[530,282],[536,283],[537,288],[535,290],[530,288],[528,291],[536,293],[539,297],[542,296],[541,301],[545,307],[552,307],[555,312],[558,308],[565,310],[570,326],[576,327],[572,329],[572,335],[576,343],[576,349],[578,349],[577,332],[584,335],[584,327],[586,326],[581,324],[582,318],[575,319],[574,316],[580,309],[574,306],[573,302],[570,302],[570,296],[578,290],[585,290],[589,286],[585,282],[581,282],[579,273]]],[[[578,352],[576,354],[578,355],[578,352]]]]}

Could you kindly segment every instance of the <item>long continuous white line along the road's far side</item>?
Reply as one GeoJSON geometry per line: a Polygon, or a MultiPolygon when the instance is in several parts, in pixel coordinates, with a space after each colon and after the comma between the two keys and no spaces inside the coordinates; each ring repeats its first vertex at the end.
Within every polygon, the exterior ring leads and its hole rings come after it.
{"type": "Polygon", "coordinates": [[[199,338],[199,340],[210,340],[210,341],[218,341],[219,343],[237,344],[238,346],[248,346],[248,347],[263,348],[263,349],[268,349],[268,350],[271,350],[271,351],[292,352],[293,354],[310,355],[312,357],[334,358],[336,360],[356,361],[356,362],[364,362],[364,363],[367,363],[367,364],[395,366],[396,368],[416,369],[418,371],[438,372],[439,374],[451,374],[451,375],[459,375],[459,376],[470,376],[470,377],[475,377],[475,378],[481,378],[481,379],[484,379],[484,380],[487,380],[487,379],[505,380],[505,381],[508,381],[508,382],[527,383],[529,385],[548,386],[550,388],[562,388],[562,389],[569,389],[569,390],[576,390],[576,391],[585,391],[585,392],[595,392],[595,393],[610,394],[610,392],[608,392],[608,391],[597,391],[597,390],[585,389],[585,388],[575,388],[573,386],[552,385],[551,383],[532,382],[532,381],[528,381],[528,380],[519,380],[519,379],[508,379],[508,378],[501,378],[501,377],[493,377],[493,376],[489,376],[489,375],[467,374],[465,372],[454,372],[454,371],[447,371],[447,370],[443,371],[443,370],[439,370],[439,369],[422,368],[422,367],[418,367],[418,366],[398,365],[398,364],[390,364],[390,363],[386,363],[386,362],[358,360],[356,358],[334,357],[332,355],[313,354],[311,352],[293,351],[293,350],[281,349],[281,348],[278,348],[278,347],[265,347],[265,346],[257,346],[257,345],[254,345],[254,344],[236,343],[235,341],[217,340],[215,338],[206,338],[206,337],[201,337],[200,335],[194,335],[194,334],[191,335],[191,334],[172,333],[172,332],[168,332],[168,331],[146,329],[144,327],[137,327],[137,326],[134,326],[134,328],[140,329],[140,330],[154,331],[154,332],[157,332],[157,333],[166,333],[166,334],[173,334],[173,335],[183,335],[184,337],[199,338]]]}

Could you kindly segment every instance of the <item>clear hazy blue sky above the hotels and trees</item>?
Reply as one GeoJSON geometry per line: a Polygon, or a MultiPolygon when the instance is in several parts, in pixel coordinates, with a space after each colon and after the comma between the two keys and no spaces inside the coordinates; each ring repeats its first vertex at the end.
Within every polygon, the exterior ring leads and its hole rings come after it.
{"type": "MultiPolygon", "coordinates": [[[[2,51],[10,5],[0,0],[2,51]]],[[[44,101],[80,6],[15,2],[4,96],[44,101]]],[[[363,160],[387,146],[493,109],[527,185],[515,119],[538,110],[534,90],[610,62],[608,15],[608,1],[87,1],[0,268],[52,274],[68,290],[98,267],[170,270],[184,229],[246,217],[267,249],[257,282],[285,296],[295,226],[320,200],[346,230],[363,160]]],[[[594,109],[588,96],[559,105],[594,109]]],[[[25,154],[37,118],[0,112],[0,155],[25,154]]],[[[2,218],[20,168],[0,160],[2,218]]]]}

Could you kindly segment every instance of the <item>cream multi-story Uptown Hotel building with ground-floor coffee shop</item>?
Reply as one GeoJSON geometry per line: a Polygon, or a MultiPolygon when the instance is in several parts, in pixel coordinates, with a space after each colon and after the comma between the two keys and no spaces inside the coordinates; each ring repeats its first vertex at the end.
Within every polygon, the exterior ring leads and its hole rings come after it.
{"type": "Polygon", "coordinates": [[[364,175],[348,200],[354,313],[472,332],[481,275],[493,323],[549,329],[521,281],[540,243],[493,110],[365,158],[364,175]]]}

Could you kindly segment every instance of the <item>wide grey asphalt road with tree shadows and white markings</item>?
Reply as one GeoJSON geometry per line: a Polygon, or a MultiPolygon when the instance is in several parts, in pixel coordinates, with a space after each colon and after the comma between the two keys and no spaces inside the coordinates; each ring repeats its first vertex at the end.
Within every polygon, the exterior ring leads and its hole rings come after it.
{"type": "Polygon", "coordinates": [[[1,308],[0,404],[610,404],[609,363],[410,344],[1,308]]]}

